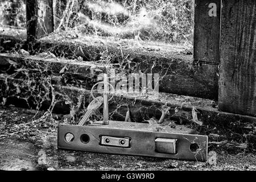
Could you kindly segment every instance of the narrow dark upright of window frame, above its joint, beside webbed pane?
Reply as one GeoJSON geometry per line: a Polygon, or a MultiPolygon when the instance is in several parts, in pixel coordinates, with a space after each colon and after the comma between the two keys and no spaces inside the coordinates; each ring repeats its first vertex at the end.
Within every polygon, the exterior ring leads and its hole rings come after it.
{"type": "Polygon", "coordinates": [[[194,60],[220,62],[221,0],[195,0],[194,60]]]}

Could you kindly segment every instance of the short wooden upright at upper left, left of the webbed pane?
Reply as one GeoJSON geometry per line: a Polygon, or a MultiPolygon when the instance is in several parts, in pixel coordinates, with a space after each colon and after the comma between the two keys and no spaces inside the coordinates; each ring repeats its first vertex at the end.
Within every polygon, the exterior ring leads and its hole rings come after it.
{"type": "Polygon", "coordinates": [[[28,41],[53,32],[53,0],[27,0],[26,15],[28,41]]]}

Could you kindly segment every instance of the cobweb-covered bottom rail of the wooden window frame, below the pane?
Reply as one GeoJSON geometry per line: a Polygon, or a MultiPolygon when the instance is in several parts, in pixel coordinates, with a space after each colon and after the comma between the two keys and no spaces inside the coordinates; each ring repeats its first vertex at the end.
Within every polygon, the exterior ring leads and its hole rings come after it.
{"type": "Polygon", "coordinates": [[[130,68],[126,64],[125,71],[136,73],[140,70],[143,73],[159,73],[160,92],[217,100],[217,65],[209,65],[211,68],[207,68],[207,65],[200,63],[193,67],[192,55],[177,50],[175,46],[159,47],[160,50],[148,51],[150,47],[148,49],[127,48],[127,46],[130,47],[130,43],[126,43],[125,47],[118,45],[114,40],[111,43],[106,40],[102,44],[94,38],[61,42],[54,38],[50,36],[40,40],[32,52],[50,51],[56,56],[64,56],[68,59],[81,56],[84,61],[100,61],[106,58],[106,52],[108,52],[111,58],[109,61],[112,64],[122,64],[124,57],[130,60],[130,68]],[[209,72],[213,69],[213,72],[209,72]]]}

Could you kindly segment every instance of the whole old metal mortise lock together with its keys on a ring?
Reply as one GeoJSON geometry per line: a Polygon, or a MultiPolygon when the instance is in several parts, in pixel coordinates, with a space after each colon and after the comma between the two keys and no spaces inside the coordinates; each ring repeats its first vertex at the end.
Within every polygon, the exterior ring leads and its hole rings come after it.
{"type": "MultiPolygon", "coordinates": [[[[158,158],[207,160],[208,137],[183,133],[173,129],[166,132],[150,131],[147,123],[109,121],[108,86],[104,75],[104,96],[95,98],[79,125],[58,126],[58,148],[108,154],[153,156],[158,158]],[[101,104],[104,103],[104,119],[83,126],[101,104]],[[174,131],[175,130],[175,131],[174,131]]],[[[98,83],[99,84],[99,83],[98,83]]],[[[112,86],[113,87],[113,86],[112,86]]],[[[113,96],[110,98],[110,100],[113,96]]],[[[171,128],[170,128],[171,129],[171,128]]]]}

